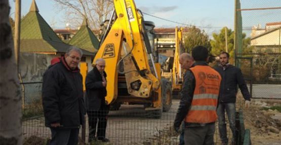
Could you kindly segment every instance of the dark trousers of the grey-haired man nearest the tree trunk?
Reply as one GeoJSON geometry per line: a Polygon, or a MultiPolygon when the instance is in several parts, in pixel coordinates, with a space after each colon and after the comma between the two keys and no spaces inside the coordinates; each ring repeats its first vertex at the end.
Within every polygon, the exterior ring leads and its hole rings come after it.
{"type": "Polygon", "coordinates": [[[78,144],[79,128],[51,128],[51,145],[76,145],[78,144]]]}

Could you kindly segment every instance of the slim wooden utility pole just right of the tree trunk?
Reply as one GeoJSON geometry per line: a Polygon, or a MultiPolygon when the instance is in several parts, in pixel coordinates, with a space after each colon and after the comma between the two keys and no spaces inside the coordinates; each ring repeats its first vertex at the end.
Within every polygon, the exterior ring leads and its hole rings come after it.
{"type": "Polygon", "coordinates": [[[21,19],[21,0],[16,1],[16,11],[15,11],[15,57],[16,57],[16,64],[17,64],[17,74],[19,73],[19,62],[20,62],[20,19],[21,19]]]}

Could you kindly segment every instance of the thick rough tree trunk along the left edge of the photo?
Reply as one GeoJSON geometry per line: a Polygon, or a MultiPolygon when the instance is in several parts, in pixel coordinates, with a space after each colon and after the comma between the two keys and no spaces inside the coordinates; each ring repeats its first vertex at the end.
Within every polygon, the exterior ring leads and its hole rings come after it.
{"type": "Polygon", "coordinates": [[[21,103],[9,22],[9,1],[0,1],[0,144],[22,144],[21,103]]]}

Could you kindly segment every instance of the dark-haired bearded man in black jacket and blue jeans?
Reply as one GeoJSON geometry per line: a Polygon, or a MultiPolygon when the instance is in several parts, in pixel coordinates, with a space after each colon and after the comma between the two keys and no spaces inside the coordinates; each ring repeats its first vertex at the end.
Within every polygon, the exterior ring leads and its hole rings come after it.
{"type": "Polygon", "coordinates": [[[239,86],[241,93],[244,97],[245,106],[250,105],[250,93],[247,85],[244,81],[241,70],[228,62],[229,54],[227,52],[221,52],[220,64],[215,67],[222,77],[219,104],[217,109],[218,120],[219,120],[219,133],[222,144],[228,143],[226,123],[225,123],[225,110],[229,120],[229,127],[232,131],[232,142],[234,143],[235,138],[235,102],[237,85],[239,86]]]}

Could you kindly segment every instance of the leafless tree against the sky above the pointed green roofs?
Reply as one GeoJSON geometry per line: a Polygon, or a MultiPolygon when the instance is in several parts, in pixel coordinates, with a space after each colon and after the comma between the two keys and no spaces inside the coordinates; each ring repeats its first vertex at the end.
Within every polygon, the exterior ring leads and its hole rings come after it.
{"type": "Polygon", "coordinates": [[[91,29],[99,29],[100,24],[108,19],[113,3],[109,0],[53,0],[59,10],[65,11],[65,21],[72,26],[79,26],[87,18],[91,29]]]}

